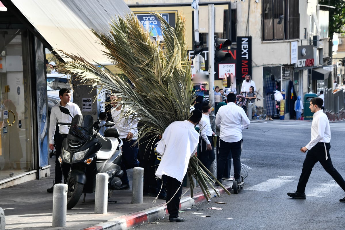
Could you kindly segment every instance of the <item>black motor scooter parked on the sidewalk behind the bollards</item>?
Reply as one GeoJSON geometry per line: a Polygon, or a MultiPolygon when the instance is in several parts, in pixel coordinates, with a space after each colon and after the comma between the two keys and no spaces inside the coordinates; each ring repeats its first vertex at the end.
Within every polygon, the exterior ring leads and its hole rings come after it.
{"type": "MultiPolygon", "coordinates": [[[[71,116],[66,107],[60,106],[60,111],[71,116]]],[[[100,126],[100,121],[93,122],[91,115],[77,114],[71,123],[57,124],[70,127],[58,158],[65,183],[68,185],[67,209],[78,203],[82,193],[95,192],[97,173],[109,175],[110,198],[114,189],[120,188],[120,178],[124,173],[120,169],[122,140],[116,128],[107,128],[104,137],[98,131],[103,126],[112,127],[115,123],[108,121],[100,126]]]]}

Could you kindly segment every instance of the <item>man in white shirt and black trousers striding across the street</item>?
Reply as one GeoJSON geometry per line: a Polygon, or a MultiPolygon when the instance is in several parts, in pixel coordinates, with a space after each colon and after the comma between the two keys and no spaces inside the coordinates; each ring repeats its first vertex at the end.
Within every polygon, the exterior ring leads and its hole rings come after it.
{"type": "MultiPolygon", "coordinates": [[[[309,176],[313,170],[316,162],[320,162],[322,167],[328,172],[329,175],[339,184],[345,191],[345,181],[338,171],[333,167],[329,149],[331,148],[331,128],[326,114],[321,109],[323,100],[321,98],[312,98],[310,100],[309,109],[314,113],[312,122],[312,137],[311,141],[300,149],[301,152],[307,152],[303,162],[302,173],[299,177],[297,190],[292,193],[288,192],[289,197],[295,199],[305,199],[305,187],[307,185],[309,176]]],[[[345,202],[345,197],[340,199],[339,202],[345,202]]]]}

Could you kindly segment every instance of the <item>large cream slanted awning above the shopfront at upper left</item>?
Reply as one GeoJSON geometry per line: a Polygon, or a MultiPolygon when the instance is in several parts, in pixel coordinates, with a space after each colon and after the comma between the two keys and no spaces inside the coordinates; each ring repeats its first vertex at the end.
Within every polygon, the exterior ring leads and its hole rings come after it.
{"type": "MultiPolygon", "coordinates": [[[[53,49],[111,64],[90,31],[107,33],[109,22],[130,9],[123,0],[11,0],[53,49]]],[[[59,53],[58,53],[59,54],[59,53]]]]}

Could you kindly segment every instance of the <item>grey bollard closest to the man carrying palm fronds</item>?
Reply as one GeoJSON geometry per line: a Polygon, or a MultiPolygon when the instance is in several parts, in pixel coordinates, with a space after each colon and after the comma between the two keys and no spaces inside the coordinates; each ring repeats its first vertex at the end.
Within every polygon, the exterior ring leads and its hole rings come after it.
{"type": "Polygon", "coordinates": [[[141,204],[144,192],[144,168],[133,169],[132,204],[141,204]]]}

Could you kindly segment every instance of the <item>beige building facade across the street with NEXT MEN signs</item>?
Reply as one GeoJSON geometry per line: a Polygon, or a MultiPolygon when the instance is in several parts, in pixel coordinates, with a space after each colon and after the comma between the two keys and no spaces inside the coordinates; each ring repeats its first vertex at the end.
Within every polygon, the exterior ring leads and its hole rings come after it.
{"type": "MultiPolygon", "coordinates": [[[[193,59],[194,9],[191,1],[125,0],[135,14],[148,14],[158,11],[169,14],[182,12],[186,17],[186,35],[190,58],[193,59]]],[[[248,73],[256,84],[256,105],[265,113],[267,93],[263,78],[274,75],[277,90],[285,90],[285,119],[294,118],[294,100],[308,92],[318,93],[333,80],[333,64],[329,60],[328,46],[328,8],[317,5],[317,0],[248,0],[248,1],[199,1],[199,40],[204,42],[207,71],[209,44],[204,22],[208,20],[208,4],[214,4],[215,27],[222,23],[223,31],[218,38],[232,41],[231,59],[215,64],[215,85],[222,85],[225,73],[236,75],[237,93],[248,73]],[[217,11],[221,9],[221,11],[217,11]],[[220,12],[220,13],[219,13],[220,12]],[[218,19],[217,19],[218,17],[218,19]],[[241,40],[244,38],[244,40],[241,40]],[[249,41],[242,44],[241,41],[249,41]],[[244,47],[244,48],[243,48],[244,47]],[[248,52],[248,53],[246,53],[248,52]],[[245,60],[250,56],[251,59],[245,60]],[[314,75],[314,77],[313,77],[314,75]],[[316,77],[317,76],[317,77],[316,77]],[[323,78],[323,79],[321,79],[323,78]]],[[[141,16],[138,16],[138,18],[141,16]]],[[[145,20],[141,20],[143,25],[145,20]]],[[[230,80],[227,81],[228,85],[230,80]]]]}

